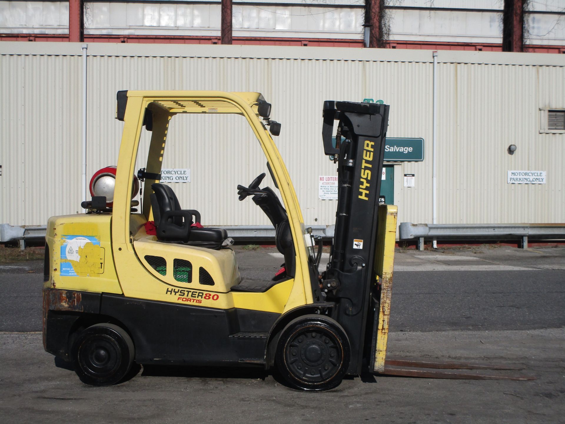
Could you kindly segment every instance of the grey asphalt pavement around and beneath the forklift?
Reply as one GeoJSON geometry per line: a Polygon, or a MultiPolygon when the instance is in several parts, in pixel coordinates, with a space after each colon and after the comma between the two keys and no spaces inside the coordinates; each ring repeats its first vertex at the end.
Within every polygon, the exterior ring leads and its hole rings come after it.
{"type": "MultiPolygon", "coordinates": [[[[250,277],[281,262],[237,256],[250,277]]],[[[1,422],[565,422],[565,249],[396,254],[389,357],[521,365],[525,382],[365,377],[306,393],[261,370],[143,367],[93,388],[44,352],[41,287],[40,262],[0,266],[1,422]]]]}

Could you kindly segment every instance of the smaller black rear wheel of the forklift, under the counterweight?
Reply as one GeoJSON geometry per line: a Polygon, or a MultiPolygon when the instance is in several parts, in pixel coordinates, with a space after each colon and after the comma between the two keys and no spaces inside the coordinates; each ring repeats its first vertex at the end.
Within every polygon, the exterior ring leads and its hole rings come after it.
{"type": "Polygon", "coordinates": [[[132,338],[114,324],[96,324],[83,330],[72,347],[75,373],[91,386],[111,386],[128,374],[133,364],[132,338]]]}

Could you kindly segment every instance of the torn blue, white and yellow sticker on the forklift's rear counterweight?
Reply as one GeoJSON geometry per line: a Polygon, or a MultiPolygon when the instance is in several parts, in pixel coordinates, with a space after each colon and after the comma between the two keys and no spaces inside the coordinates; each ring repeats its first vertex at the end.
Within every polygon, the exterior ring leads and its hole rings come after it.
{"type": "Polygon", "coordinates": [[[104,249],[96,237],[66,235],[62,242],[60,275],[88,276],[104,272],[104,249]]]}

